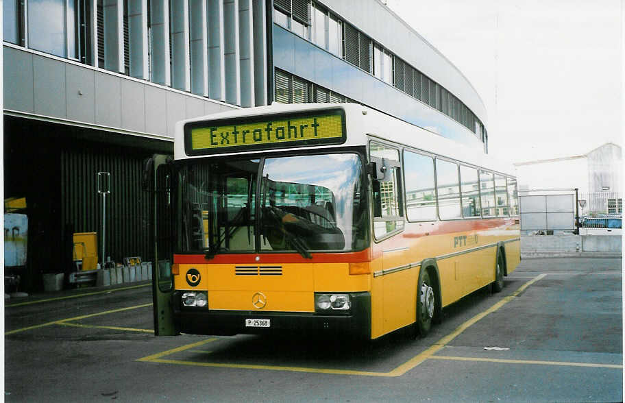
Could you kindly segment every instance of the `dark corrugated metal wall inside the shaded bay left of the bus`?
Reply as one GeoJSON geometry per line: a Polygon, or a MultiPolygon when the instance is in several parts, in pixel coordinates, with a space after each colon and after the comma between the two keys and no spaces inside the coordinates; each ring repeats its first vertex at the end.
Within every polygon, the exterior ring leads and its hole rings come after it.
{"type": "MultiPolygon", "coordinates": [[[[144,151],[145,152],[145,151],[144,151]]],[[[101,254],[102,195],[97,173],[110,172],[106,196],[106,255],[117,262],[127,256],[149,260],[148,194],[142,191],[143,160],[148,154],[126,148],[86,145],[61,152],[61,223],[74,232],[97,232],[101,254]]]]}

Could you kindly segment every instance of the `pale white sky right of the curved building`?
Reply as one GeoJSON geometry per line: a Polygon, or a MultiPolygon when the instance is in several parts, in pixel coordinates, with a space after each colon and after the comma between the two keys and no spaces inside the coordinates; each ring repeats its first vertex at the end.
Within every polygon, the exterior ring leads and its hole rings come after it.
{"type": "Polygon", "coordinates": [[[622,146],[622,1],[385,2],[476,88],[489,154],[525,162],[622,146]]]}

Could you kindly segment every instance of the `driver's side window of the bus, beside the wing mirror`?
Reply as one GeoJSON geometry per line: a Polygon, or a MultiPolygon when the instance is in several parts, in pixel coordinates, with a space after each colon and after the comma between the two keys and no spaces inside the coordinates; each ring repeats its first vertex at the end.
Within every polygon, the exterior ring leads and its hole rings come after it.
{"type": "Polygon", "coordinates": [[[371,159],[376,160],[376,169],[383,173],[373,176],[371,181],[373,231],[376,239],[380,239],[404,228],[400,151],[386,145],[370,143],[369,153],[371,159]]]}

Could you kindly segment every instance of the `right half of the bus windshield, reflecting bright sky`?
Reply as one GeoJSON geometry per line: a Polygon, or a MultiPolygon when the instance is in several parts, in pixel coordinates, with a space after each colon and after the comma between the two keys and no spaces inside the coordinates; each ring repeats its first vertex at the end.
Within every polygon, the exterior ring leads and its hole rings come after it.
{"type": "Polygon", "coordinates": [[[369,222],[362,167],[356,154],[267,158],[261,249],[363,249],[369,222]]]}

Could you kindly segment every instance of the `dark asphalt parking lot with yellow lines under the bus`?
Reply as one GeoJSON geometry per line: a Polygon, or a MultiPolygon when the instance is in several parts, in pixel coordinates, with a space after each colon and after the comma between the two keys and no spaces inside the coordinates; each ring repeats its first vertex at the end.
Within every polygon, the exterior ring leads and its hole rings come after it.
{"type": "Polygon", "coordinates": [[[7,402],[620,402],[622,260],[522,260],[428,337],[154,337],[149,284],[5,307],[7,402]]]}

